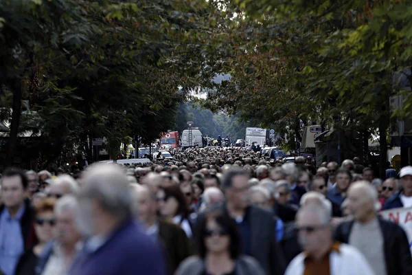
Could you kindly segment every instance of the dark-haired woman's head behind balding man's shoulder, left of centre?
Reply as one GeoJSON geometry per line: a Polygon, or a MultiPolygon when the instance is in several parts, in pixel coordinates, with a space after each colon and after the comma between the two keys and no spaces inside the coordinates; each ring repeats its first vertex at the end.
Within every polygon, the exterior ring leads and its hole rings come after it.
{"type": "Polygon", "coordinates": [[[180,215],[187,218],[189,214],[185,195],[179,186],[161,188],[157,192],[157,201],[159,201],[159,211],[163,217],[173,218],[180,215]]]}

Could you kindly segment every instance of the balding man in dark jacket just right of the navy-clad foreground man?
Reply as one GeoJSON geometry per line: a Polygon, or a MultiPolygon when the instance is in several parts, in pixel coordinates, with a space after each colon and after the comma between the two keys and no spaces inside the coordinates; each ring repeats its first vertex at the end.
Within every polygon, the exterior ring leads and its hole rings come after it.
{"type": "Polygon", "coordinates": [[[133,190],[135,217],[144,224],[149,236],[158,241],[168,260],[169,274],[174,274],[180,263],[191,255],[190,241],[178,225],[157,218],[159,205],[147,186],[133,190]]]}

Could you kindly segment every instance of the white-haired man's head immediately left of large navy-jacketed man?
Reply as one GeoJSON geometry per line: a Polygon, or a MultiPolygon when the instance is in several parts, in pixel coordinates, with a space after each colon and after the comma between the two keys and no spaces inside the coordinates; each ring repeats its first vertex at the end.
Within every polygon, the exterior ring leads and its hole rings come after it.
{"type": "Polygon", "coordinates": [[[56,216],[56,240],[61,245],[73,247],[80,241],[82,235],[76,227],[78,201],[73,195],[65,195],[58,199],[54,207],[56,216]]]}

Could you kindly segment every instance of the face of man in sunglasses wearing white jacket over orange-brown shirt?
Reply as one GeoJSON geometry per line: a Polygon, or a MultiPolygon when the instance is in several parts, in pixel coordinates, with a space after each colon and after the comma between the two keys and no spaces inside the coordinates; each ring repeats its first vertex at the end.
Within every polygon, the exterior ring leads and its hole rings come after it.
{"type": "Polygon", "coordinates": [[[319,215],[314,212],[298,214],[297,228],[299,243],[309,253],[319,252],[332,234],[330,226],[322,224],[319,215]]]}

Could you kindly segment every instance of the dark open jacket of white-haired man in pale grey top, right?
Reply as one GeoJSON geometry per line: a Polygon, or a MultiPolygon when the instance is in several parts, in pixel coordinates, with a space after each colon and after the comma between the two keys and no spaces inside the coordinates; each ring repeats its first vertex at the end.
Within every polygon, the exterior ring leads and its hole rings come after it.
{"type": "MultiPolygon", "coordinates": [[[[378,218],[384,239],[384,254],[387,275],[412,274],[412,256],[409,241],[404,230],[391,221],[378,218]]],[[[341,243],[349,243],[354,221],[346,221],[336,228],[335,239],[341,243]]]]}

